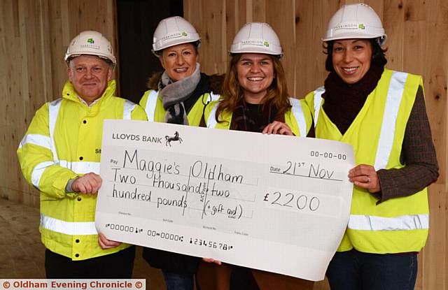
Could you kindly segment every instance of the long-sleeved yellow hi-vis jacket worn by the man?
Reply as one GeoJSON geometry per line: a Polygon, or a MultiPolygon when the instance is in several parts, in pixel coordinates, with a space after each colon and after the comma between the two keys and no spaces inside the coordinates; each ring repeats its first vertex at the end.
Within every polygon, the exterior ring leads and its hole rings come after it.
{"type": "Polygon", "coordinates": [[[41,191],[43,244],[72,260],[130,247],[101,249],[94,225],[97,196],[65,191],[69,180],[85,173],[99,174],[104,119],[146,120],[140,106],[113,96],[115,87],[111,80],[101,99],[88,108],[71,82],[66,82],[61,99],[37,110],[17,151],[23,175],[41,191]]]}

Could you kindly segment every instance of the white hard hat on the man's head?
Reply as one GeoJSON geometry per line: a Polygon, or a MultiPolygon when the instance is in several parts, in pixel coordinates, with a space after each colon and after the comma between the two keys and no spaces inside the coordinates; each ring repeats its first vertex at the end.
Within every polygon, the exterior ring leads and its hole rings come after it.
{"type": "Polygon", "coordinates": [[[80,55],[97,55],[102,59],[109,59],[113,66],[116,64],[111,43],[98,31],[83,31],[71,40],[64,60],[80,55]]]}

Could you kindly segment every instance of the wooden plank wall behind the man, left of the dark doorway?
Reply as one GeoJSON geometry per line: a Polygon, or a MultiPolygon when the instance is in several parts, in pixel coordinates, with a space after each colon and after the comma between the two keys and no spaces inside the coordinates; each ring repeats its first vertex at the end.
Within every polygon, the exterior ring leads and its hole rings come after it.
{"type": "Polygon", "coordinates": [[[114,0],[0,1],[1,198],[38,206],[15,151],[34,112],[62,94],[71,38],[96,29],[115,41],[115,7],[114,0]]]}

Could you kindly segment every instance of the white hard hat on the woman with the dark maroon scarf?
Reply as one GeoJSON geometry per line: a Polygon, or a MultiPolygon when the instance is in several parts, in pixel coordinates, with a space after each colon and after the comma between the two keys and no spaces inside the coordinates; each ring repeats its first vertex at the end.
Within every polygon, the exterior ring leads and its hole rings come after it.
{"type": "Polygon", "coordinates": [[[344,5],[328,22],[322,41],[347,38],[379,38],[379,45],[386,43],[387,35],[377,13],[364,3],[344,5]]]}

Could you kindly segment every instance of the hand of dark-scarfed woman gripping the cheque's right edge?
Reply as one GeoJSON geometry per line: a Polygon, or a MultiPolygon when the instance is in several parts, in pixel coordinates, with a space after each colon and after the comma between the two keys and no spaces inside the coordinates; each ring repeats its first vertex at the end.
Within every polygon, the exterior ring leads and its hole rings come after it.
{"type": "Polygon", "coordinates": [[[381,191],[377,171],[371,165],[360,164],[349,171],[349,180],[357,187],[374,193],[381,191]]]}

